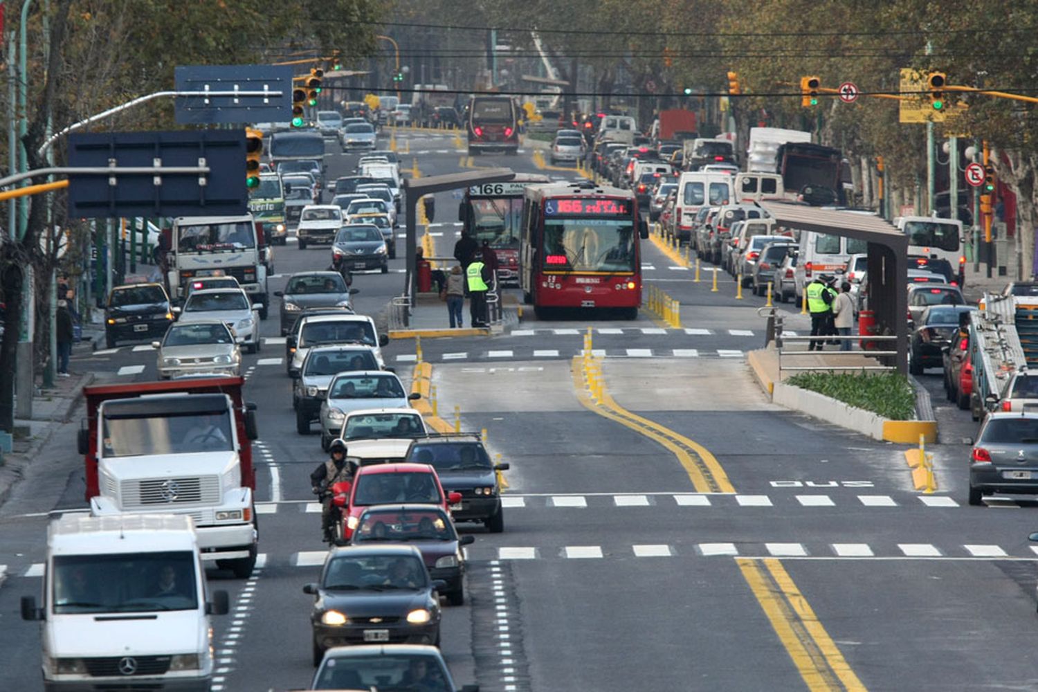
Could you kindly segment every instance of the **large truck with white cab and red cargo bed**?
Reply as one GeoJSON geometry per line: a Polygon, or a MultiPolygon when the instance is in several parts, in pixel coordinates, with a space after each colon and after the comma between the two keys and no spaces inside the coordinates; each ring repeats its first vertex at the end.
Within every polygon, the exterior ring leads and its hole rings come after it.
{"type": "Polygon", "coordinates": [[[241,383],[229,377],[84,388],[88,424],[79,450],[90,513],[191,517],[202,559],[239,578],[251,574],[256,431],[241,383]]]}

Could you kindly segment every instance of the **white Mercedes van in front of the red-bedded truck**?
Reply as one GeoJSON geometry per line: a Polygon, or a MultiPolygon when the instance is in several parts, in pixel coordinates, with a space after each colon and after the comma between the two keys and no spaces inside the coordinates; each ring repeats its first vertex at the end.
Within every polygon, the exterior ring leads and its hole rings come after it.
{"type": "Polygon", "coordinates": [[[210,615],[226,591],[207,591],[194,524],[183,515],[64,516],[47,530],[38,620],[44,687],[209,690],[210,615]]]}

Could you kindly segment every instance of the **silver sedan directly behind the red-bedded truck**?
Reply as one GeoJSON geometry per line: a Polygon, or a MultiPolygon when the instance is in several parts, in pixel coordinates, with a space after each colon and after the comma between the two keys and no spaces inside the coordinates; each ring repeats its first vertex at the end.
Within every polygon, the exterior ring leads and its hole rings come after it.
{"type": "Polygon", "coordinates": [[[213,372],[239,376],[242,352],[235,335],[219,320],[173,324],[162,341],[153,341],[158,354],[157,367],[163,380],[213,372]]]}

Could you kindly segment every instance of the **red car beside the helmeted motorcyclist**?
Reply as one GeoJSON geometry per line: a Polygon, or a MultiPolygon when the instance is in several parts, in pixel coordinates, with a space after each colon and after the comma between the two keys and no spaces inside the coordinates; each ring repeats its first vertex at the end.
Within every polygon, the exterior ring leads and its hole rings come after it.
{"type": "Polygon", "coordinates": [[[461,493],[444,493],[436,469],[429,464],[361,466],[343,508],[343,537],[350,538],[360,515],[374,504],[436,504],[449,515],[450,505],[460,502],[461,493]]]}

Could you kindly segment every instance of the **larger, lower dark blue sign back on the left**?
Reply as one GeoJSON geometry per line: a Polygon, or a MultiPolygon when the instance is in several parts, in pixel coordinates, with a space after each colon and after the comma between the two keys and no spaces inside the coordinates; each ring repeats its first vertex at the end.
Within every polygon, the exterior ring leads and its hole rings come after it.
{"type": "Polygon", "coordinates": [[[69,137],[76,168],[199,167],[208,173],[69,175],[69,216],[222,216],[248,212],[245,132],[83,133],[69,137]]]}

